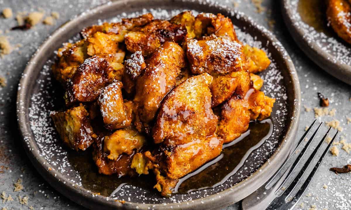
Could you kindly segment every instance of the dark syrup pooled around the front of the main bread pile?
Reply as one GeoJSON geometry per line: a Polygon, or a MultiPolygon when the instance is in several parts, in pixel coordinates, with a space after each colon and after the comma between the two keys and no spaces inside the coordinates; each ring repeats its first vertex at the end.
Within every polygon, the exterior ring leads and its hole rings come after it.
{"type": "MultiPolygon", "coordinates": [[[[216,187],[226,181],[240,169],[242,163],[254,149],[257,149],[272,134],[273,125],[270,119],[251,122],[249,130],[240,139],[223,146],[223,151],[214,160],[206,163],[191,174],[180,179],[174,193],[185,194],[198,189],[216,187]]],[[[103,175],[97,172],[91,153],[70,151],[68,159],[81,177],[82,186],[94,193],[110,196],[125,184],[154,190],[154,175],[139,177],[119,177],[103,175]],[[117,189],[117,190],[116,190],[117,189]]],[[[156,190],[155,194],[158,192],[156,190]]]]}

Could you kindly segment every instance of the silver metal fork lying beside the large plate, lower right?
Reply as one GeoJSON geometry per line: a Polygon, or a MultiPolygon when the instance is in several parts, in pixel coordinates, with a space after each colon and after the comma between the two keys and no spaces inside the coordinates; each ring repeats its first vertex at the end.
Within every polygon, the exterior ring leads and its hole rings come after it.
{"type": "Polygon", "coordinates": [[[289,163],[289,160],[292,160],[292,156],[294,153],[297,151],[297,149],[300,147],[306,136],[310,133],[314,125],[316,124],[317,120],[314,120],[311,126],[308,128],[308,130],[304,133],[302,138],[299,140],[297,147],[293,150],[291,155],[283,162],[282,166],[278,169],[278,171],[271,177],[270,180],[268,180],[261,188],[259,188],[256,192],[251,194],[250,196],[246,197],[243,202],[242,202],[242,208],[243,210],[256,210],[256,209],[265,209],[266,210],[290,210],[295,207],[295,205],[298,203],[302,195],[304,194],[305,190],[309,186],[311,180],[313,179],[314,174],[318,170],[320,164],[322,163],[326,153],[329,151],[330,146],[333,144],[334,140],[337,138],[338,131],[335,133],[334,137],[332,140],[329,142],[328,146],[325,148],[322,156],[320,156],[317,164],[314,166],[312,169],[310,175],[307,177],[306,181],[303,183],[302,187],[297,191],[297,193],[294,195],[294,197],[287,201],[290,195],[292,194],[293,190],[296,188],[297,184],[299,183],[300,179],[304,175],[306,169],[310,166],[311,162],[314,160],[319,148],[322,146],[323,142],[327,138],[331,128],[328,129],[328,131],[324,134],[323,139],[319,142],[317,147],[314,149],[312,154],[310,155],[309,159],[306,161],[305,165],[302,167],[300,172],[294,177],[294,179],[289,183],[288,187],[284,190],[281,190],[286,181],[292,177],[292,172],[296,167],[299,165],[300,160],[306,153],[307,149],[311,145],[312,141],[315,139],[317,133],[320,130],[320,127],[323,125],[323,122],[321,122],[317,128],[316,131],[312,134],[311,138],[307,142],[307,144],[304,146],[300,154],[297,156],[296,160],[290,165],[289,167],[287,166],[287,163],[289,163]],[[283,168],[285,169],[285,172],[283,173],[283,176],[277,181],[273,182],[275,178],[278,176],[278,174],[281,174],[283,168]],[[259,198],[259,199],[258,199],[259,198]],[[261,199],[263,198],[263,199],[261,199]],[[273,201],[272,201],[273,200],[273,201]]]}

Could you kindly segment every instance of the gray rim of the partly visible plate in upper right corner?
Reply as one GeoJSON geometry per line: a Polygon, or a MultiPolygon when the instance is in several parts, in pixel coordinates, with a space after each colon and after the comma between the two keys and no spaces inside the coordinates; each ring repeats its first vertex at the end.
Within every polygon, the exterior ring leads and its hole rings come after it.
{"type": "Polygon", "coordinates": [[[351,85],[351,65],[342,63],[338,59],[335,59],[336,62],[333,62],[331,58],[335,58],[335,56],[320,48],[315,42],[308,42],[304,38],[304,34],[306,33],[303,29],[294,27],[299,21],[291,18],[294,12],[291,9],[291,0],[283,0],[281,10],[285,26],[290,31],[290,35],[293,37],[294,42],[307,55],[307,57],[331,76],[351,85]]]}

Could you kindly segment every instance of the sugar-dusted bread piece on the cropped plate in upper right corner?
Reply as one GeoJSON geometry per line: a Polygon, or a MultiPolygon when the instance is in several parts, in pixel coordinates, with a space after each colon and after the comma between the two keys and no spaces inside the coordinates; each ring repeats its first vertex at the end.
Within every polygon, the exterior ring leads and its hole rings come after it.
{"type": "Polygon", "coordinates": [[[351,44],[351,2],[347,0],[328,0],[327,19],[334,31],[351,44]]]}

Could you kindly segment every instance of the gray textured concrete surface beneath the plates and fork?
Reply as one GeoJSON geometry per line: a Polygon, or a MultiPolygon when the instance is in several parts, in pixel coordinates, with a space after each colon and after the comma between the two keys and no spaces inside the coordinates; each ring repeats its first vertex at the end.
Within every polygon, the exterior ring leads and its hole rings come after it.
{"type": "MultiPolygon", "coordinates": [[[[254,0],[252,1],[255,2],[254,0]]],[[[225,0],[221,1],[221,3],[228,6],[238,5],[238,10],[245,12],[256,22],[273,31],[289,52],[297,69],[302,91],[302,105],[308,107],[318,106],[317,92],[322,92],[330,99],[330,109],[335,108],[337,112],[335,117],[322,117],[320,120],[330,121],[331,119],[338,119],[344,128],[342,135],[345,136],[347,142],[351,142],[351,124],[347,125],[345,117],[351,117],[351,86],[329,76],[303,54],[284,26],[278,1],[263,1],[262,5],[266,10],[261,13],[257,12],[252,1],[225,0]]],[[[55,28],[74,15],[78,15],[86,9],[93,8],[101,3],[105,3],[105,1],[0,0],[0,10],[10,7],[14,14],[23,11],[38,11],[40,9],[45,10],[46,14],[50,14],[52,11],[60,13],[60,18],[54,26],[39,24],[27,31],[10,31],[8,33],[5,33],[7,29],[16,26],[15,19],[0,18],[0,30],[3,31],[1,35],[9,36],[13,46],[21,44],[19,49],[15,49],[10,55],[0,58],[0,76],[5,77],[7,80],[7,85],[0,87],[0,194],[5,192],[7,196],[11,195],[14,199],[14,201],[7,202],[0,200],[1,208],[84,209],[52,189],[40,177],[31,165],[31,162],[28,161],[19,139],[15,114],[15,96],[17,84],[26,63],[44,39],[55,28]],[[18,179],[22,180],[24,188],[14,192],[14,183],[18,179]],[[27,204],[20,204],[19,196],[28,196],[27,204]]],[[[302,108],[298,137],[304,133],[305,127],[313,119],[313,111],[305,112],[304,108],[302,108]]],[[[322,127],[322,131],[326,129],[326,126],[322,127]]],[[[341,167],[351,163],[351,155],[343,151],[340,145],[337,147],[340,149],[339,156],[334,157],[330,153],[327,154],[323,165],[305,193],[306,195],[311,193],[311,196],[303,196],[295,209],[310,209],[311,205],[316,205],[317,209],[351,209],[351,202],[349,201],[351,200],[351,174],[335,175],[329,171],[330,167],[341,167]],[[327,189],[323,188],[324,184],[328,186],[327,189]],[[302,202],[304,203],[303,208],[300,207],[302,202]]],[[[238,205],[233,205],[226,209],[234,210],[238,208],[238,205]]]]}

